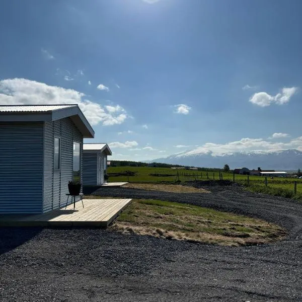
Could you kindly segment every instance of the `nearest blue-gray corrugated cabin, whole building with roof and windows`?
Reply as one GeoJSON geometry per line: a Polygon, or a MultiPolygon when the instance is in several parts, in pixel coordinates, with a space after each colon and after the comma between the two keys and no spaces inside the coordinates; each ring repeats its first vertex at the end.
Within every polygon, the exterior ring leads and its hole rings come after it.
{"type": "Polygon", "coordinates": [[[82,179],[83,138],[93,137],[78,105],[0,106],[0,212],[64,206],[68,182],[82,179]]]}

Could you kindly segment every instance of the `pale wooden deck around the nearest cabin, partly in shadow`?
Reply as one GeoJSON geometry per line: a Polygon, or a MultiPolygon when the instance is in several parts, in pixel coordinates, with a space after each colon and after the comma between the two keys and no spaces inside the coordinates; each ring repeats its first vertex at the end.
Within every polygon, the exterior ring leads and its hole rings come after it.
{"type": "Polygon", "coordinates": [[[0,226],[107,226],[131,199],[83,199],[44,214],[0,215],[0,226]]]}

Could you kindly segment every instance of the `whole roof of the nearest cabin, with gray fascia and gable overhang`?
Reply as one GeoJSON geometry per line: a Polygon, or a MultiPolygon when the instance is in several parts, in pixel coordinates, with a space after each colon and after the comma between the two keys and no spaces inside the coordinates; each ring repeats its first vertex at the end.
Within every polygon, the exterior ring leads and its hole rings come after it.
{"type": "Polygon", "coordinates": [[[94,130],[77,104],[0,106],[0,121],[55,121],[69,117],[84,138],[93,138],[94,130]]]}

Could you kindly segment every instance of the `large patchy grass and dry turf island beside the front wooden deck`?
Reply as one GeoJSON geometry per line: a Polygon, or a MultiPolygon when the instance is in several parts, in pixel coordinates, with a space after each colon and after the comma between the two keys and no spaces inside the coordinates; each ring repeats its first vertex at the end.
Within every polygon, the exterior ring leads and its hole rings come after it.
{"type": "Polygon", "coordinates": [[[286,236],[276,224],[177,202],[133,199],[110,226],[124,234],[225,246],[271,243],[286,236]]]}

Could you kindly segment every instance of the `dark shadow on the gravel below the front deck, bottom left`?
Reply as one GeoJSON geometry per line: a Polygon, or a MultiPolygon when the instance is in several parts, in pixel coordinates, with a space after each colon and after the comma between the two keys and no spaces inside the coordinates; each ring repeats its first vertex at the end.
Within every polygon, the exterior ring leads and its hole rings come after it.
{"type": "Polygon", "coordinates": [[[41,230],[42,228],[0,228],[0,255],[29,241],[41,230]]]}

